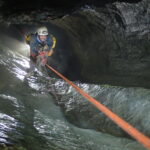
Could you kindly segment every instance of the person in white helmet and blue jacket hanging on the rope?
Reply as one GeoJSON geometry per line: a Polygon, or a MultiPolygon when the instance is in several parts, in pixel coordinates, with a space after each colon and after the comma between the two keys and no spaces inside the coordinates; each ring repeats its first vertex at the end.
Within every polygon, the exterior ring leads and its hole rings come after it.
{"type": "Polygon", "coordinates": [[[30,69],[27,74],[29,77],[34,73],[36,66],[46,65],[48,57],[54,53],[56,38],[48,33],[47,27],[42,26],[35,34],[28,34],[25,40],[30,46],[30,69]]]}

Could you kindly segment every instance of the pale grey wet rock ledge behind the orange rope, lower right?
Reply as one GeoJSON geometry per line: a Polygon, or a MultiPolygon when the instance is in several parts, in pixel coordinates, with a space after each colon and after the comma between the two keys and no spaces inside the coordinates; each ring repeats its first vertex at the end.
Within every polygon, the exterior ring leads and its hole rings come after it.
{"type": "MultiPolygon", "coordinates": [[[[150,136],[149,90],[93,84],[78,84],[78,86],[136,129],[150,136]]],[[[78,94],[78,92],[75,92],[73,88],[67,88],[66,84],[61,84],[57,89],[61,93],[58,104],[62,106],[65,116],[71,123],[86,129],[128,137],[121,128],[78,94]],[[64,91],[65,95],[63,94],[64,91]]]]}

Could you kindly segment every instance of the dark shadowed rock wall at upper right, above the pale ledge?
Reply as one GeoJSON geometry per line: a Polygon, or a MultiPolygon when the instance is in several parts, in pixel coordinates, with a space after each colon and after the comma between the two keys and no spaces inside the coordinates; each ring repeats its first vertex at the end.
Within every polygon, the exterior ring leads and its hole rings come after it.
{"type": "Polygon", "coordinates": [[[150,87],[149,8],[147,0],[116,2],[54,21],[72,37],[84,80],[150,87]]]}

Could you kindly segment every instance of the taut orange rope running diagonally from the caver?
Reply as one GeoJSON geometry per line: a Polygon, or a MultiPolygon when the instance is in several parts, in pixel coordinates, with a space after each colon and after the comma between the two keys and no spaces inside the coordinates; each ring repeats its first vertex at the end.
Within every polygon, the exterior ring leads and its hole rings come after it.
{"type": "Polygon", "coordinates": [[[102,111],[107,117],[109,117],[113,122],[115,122],[119,127],[121,127],[124,131],[126,131],[129,135],[131,135],[134,139],[136,139],[139,143],[143,144],[145,148],[150,150],[150,138],[139,132],[137,129],[135,129],[133,126],[131,126],[129,123],[121,119],[118,115],[113,113],[111,110],[109,110],[107,107],[105,107],[103,104],[95,100],[93,97],[88,95],[86,92],[81,90],[78,86],[76,86],[73,82],[68,80],[66,77],[64,77],[62,74],[60,74],[58,71],[50,67],[46,64],[46,66],[55,72],[58,76],[63,78],[66,82],[68,82],[70,85],[72,85],[81,95],[83,95],[89,102],[91,102],[95,107],[97,107],[100,111],[102,111]]]}

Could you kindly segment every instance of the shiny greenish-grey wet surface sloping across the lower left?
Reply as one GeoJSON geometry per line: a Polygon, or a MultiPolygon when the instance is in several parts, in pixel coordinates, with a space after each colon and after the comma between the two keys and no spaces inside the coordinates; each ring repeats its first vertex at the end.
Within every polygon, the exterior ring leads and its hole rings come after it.
{"type": "Polygon", "coordinates": [[[62,80],[42,73],[24,82],[28,67],[27,57],[1,45],[0,149],[7,146],[14,150],[144,149],[133,140],[69,123],[56,100],[58,93],[67,98],[71,89],[67,85],[61,88],[61,84],[65,85],[62,80]]]}

